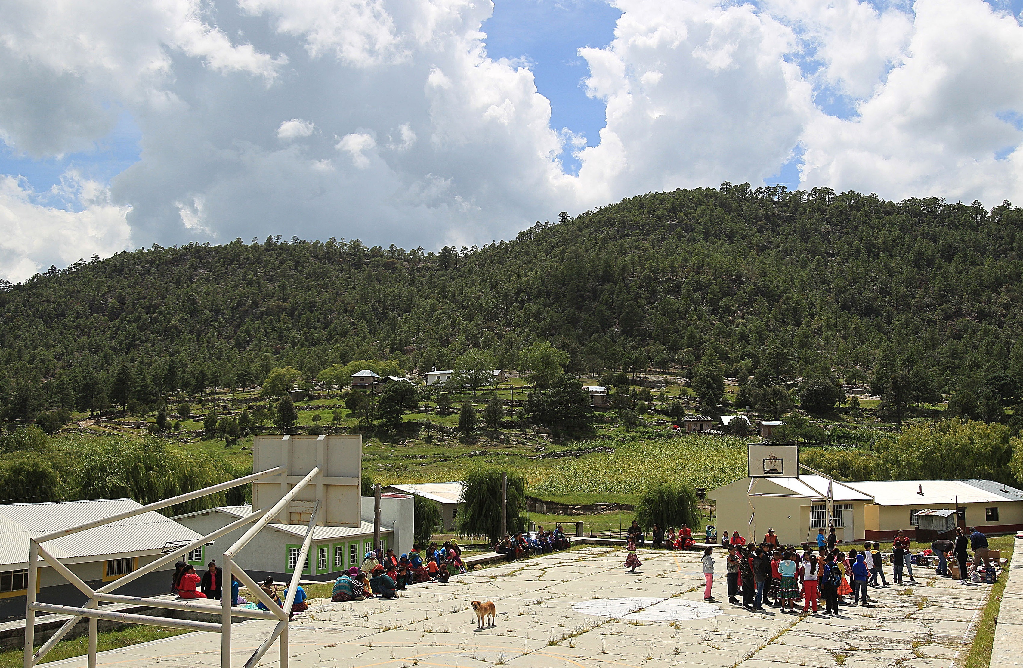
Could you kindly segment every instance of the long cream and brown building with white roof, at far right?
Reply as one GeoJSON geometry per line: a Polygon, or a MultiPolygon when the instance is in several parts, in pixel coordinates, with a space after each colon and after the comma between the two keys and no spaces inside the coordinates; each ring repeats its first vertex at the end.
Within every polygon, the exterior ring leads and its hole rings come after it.
{"type": "Polygon", "coordinates": [[[874,497],[868,508],[866,537],[890,539],[899,531],[916,535],[924,509],[959,508],[959,524],[983,533],[1023,529],[1023,491],[993,480],[872,480],[846,483],[874,497]],[[959,505],[957,506],[957,502],[959,505]]]}

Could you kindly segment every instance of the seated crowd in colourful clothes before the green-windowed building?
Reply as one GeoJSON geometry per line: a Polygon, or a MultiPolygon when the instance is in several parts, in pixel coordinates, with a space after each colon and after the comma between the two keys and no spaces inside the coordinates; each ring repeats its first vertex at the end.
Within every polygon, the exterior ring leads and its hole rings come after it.
{"type": "Polygon", "coordinates": [[[394,550],[381,554],[368,551],[360,567],[353,566],[333,582],[330,600],[365,600],[379,596],[397,598],[398,591],[420,582],[447,582],[452,575],[465,573],[461,548],[455,540],[438,547],[430,543],[425,552],[418,543],[412,551],[395,556],[394,550]]]}

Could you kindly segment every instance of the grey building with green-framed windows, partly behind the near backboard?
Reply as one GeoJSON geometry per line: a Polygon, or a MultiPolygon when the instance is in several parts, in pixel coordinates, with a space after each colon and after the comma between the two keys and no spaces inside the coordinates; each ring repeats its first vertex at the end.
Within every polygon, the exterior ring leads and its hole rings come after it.
{"type": "MultiPolygon", "coordinates": [[[[332,580],[342,571],[362,564],[362,558],[373,548],[374,499],[361,499],[359,527],[321,527],[313,529],[313,543],[303,570],[304,579],[332,580]]],[[[253,513],[252,505],[227,505],[198,510],[175,517],[181,526],[198,535],[206,535],[253,513]]],[[[395,554],[412,548],[414,533],[414,499],[408,494],[383,494],[381,498],[381,539],[384,548],[391,547],[395,554]]],[[[201,561],[222,561],[224,550],[248,531],[240,527],[203,548],[201,561]]],[[[272,576],[287,580],[295,573],[302,541],[306,535],[304,524],[271,523],[234,555],[234,562],[256,579],[272,576]]]]}

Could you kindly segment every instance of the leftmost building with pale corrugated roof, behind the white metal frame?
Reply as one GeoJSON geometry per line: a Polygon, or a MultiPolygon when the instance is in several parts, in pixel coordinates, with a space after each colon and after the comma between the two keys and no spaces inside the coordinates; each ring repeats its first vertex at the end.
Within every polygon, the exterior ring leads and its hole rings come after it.
{"type": "MultiPolygon", "coordinates": [[[[130,498],[0,504],[0,618],[25,616],[30,538],[138,507],[141,504],[130,498]]],[[[149,511],[56,538],[46,543],[46,549],[86,584],[99,587],[160,559],[170,551],[169,546],[201,537],[170,518],[149,511]]],[[[167,593],[173,572],[172,565],[149,573],[119,592],[134,596],[167,593]]],[[[39,569],[36,600],[81,606],[87,598],[51,567],[44,566],[39,569]]]]}

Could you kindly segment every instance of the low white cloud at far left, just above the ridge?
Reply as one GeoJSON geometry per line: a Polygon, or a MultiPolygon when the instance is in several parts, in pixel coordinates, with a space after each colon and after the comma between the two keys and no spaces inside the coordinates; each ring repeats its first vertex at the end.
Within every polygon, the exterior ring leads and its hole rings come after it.
{"type": "Polygon", "coordinates": [[[125,250],[129,211],[110,204],[106,187],[75,172],[42,194],[17,178],[0,176],[0,276],[25,280],[52,263],[66,266],[125,250]],[[65,208],[50,201],[63,201],[65,208]]]}

